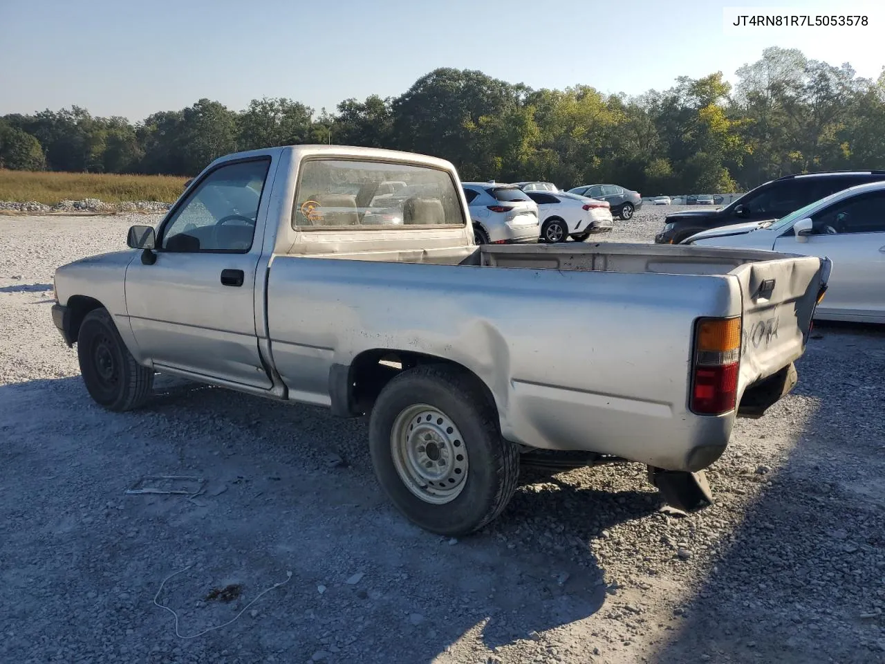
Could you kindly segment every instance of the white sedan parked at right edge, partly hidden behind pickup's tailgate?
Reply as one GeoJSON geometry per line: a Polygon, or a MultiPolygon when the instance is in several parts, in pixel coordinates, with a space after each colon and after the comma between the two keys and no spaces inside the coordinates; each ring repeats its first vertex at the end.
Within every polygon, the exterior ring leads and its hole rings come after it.
{"type": "Polygon", "coordinates": [[[683,244],[826,257],[833,274],[815,318],[885,323],[885,181],[843,189],[774,223],[714,228],[683,244]]]}

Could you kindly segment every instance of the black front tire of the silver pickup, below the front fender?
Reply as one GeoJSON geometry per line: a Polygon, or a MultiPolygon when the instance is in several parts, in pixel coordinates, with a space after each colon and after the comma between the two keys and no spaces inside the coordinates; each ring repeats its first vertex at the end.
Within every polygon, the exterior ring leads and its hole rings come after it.
{"type": "Polygon", "coordinates": [[[89,396],[109,411],[134,410],[150,398],[154,372],[135,362],[107,309],[86,314],[77,336],[77,359],[89,396]]]}

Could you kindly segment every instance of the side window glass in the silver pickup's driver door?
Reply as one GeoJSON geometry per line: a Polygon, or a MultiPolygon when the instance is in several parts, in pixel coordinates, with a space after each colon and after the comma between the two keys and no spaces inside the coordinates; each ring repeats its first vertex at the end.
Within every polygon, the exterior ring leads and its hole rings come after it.
{"type": "Polygon", "coordinates": [[[164,251],[249,251],[270,158],[220,166],[208,174],[167,221],[164,251]]]}

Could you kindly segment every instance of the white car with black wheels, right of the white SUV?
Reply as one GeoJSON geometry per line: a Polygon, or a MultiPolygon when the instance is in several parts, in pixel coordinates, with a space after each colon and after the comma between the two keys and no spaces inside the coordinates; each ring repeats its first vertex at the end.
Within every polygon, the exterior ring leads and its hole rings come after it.
{"type": "Polygon", "coordinates": [[[612,230],[612,211],[605,201],[560,191],[527,191],[538,204],[541,242],[566,242],[569,236],[583,242],[590,235],[612,230]]]}

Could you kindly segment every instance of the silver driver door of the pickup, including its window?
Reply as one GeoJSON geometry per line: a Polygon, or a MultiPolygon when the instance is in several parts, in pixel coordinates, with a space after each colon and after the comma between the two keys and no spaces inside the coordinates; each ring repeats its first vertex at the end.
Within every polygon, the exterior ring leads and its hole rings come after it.
{"type": "Polygon", "coordinates": [[[271,387],[255,326],[270,157],[205,174],[158,230],[157,260],[127,268],[132,331],[155,368],[271,387]]]}

